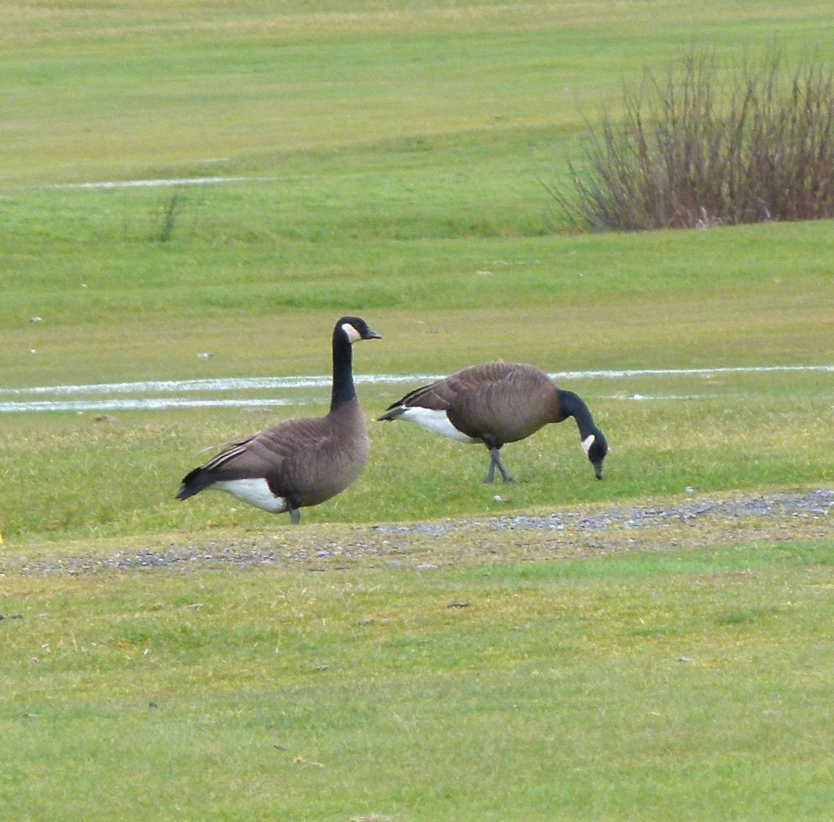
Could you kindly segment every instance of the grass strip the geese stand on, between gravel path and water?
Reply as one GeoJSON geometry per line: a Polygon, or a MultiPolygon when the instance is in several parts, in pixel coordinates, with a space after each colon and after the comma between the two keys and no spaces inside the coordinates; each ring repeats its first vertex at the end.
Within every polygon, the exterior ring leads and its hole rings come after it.
{"type": "MultiPolygon", "coordinates": [[[[510,487],[482,484],[489,463],[484,448],[461,446],[405,423],[372,423],[372,454],[364,474],[328,504],[305,510],[303,521],[374,523],[531,507],[552,511],[675,496],[688,487],[713,493],[826,486],[834,480],[826,380],[818,377],[816,386],[808,381],[807,390],[817,396],[790,405],[774,396],[772,386],[764,386],[765,377],[761,394],[666,401],[598,397],[600,389],[607,393],[615,386],[589,381],[581,393],[614,449],[601,483],[570,421],[505,448],[505,464],[519,480],[510,487]]],[[[386,401],[380,397],[366,406],[381,411],[386,401]]],[[[318,411],[324,408],[303,409],[318,411]]],[[[298,413],[281,410],[280,416],[298,413]]],[[[286,517],[242,506],[224,494],[185,503],[173,499],[181,476],[205,459],[204,447],[257,431],[279,415],[208,409],[97,416],[16,416],[3,431],[6,541],[141,540],[200,532],[208,538],[235,527],[265,533],[289,528],[286,517]]]]}

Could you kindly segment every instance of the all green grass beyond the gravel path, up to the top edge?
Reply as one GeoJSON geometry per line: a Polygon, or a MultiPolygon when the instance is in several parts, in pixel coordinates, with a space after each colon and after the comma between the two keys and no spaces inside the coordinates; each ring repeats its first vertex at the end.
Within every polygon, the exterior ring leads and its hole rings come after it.
{"type": "MultiPolygon", "coordinates": [[[[721,2],[636,3],[628,15],[583,3],[21,7],[0,72],[13,136],[0,192],[3,387],[320,374],[345,311],[384,336],[359,351],[359,373],[495,358],[549,371],[826,364],[829,225],[558,236],[539,182],[564,175],[583,105],[618,99],[643,64],[699,38],[738,57],[776,32],[790,57],[831,27],[820,14],[776,3],[739,15],[721,2]],[[505,116],[510,102],[518,111],[505,116]],[[51,117],[35,117],[45,107],[51,117]],[[169,139],[183,157],[168,157],[169,139]],[[222,162],[203,162],[206,139],[224,141],[222,162]],[[205,173],[245,179],[22,185],[205,173]],[[173,232],[158,242],[174,193],[173,232]]],[[[527,480],[513,490],[519,509],[831,477],[825,375],[569,387],[610,435],[610,482],[587,481],[570,424],[543,431],[508,450],[527,480]]],[[[369,416],[400,393],[360,391],[369,416]]],[[[324,392],[303,399],[320,411],[324,392]]],[[[171,492],[201,448],[297,413],[14,416],[0,441],[3,532],[26,543],[210,531],[239,517],[271,527],[222,498],[180,506],[171,492]]],[[[311,521],[492,510],[482,454],[405,426],[372,433],[369,471],[311,521]]]]}

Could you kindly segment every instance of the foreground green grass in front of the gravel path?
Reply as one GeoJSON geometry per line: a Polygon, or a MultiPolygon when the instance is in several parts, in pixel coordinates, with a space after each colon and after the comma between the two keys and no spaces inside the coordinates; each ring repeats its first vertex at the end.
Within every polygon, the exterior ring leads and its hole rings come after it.
{"type": "Polygon", "coordinates": [[[4,814],[826,819],[831,568],[806,544],[13,578],[4,814]]]}

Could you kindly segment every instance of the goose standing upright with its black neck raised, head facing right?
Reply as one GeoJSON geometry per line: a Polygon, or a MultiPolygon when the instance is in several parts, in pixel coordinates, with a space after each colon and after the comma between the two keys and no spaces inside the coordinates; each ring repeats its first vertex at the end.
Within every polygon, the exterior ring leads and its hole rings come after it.
{"type": "Polygon", "coordinates": [[[183,477],[178,500],[218,488],[273,514],[316,506],[344,491],[364,468],[369,442],[354,389],[353,350],[379,340],[358,316],[343,316],[333,330],[333,389],[326,416],[289,420],[233,442],[183,477]]]}

